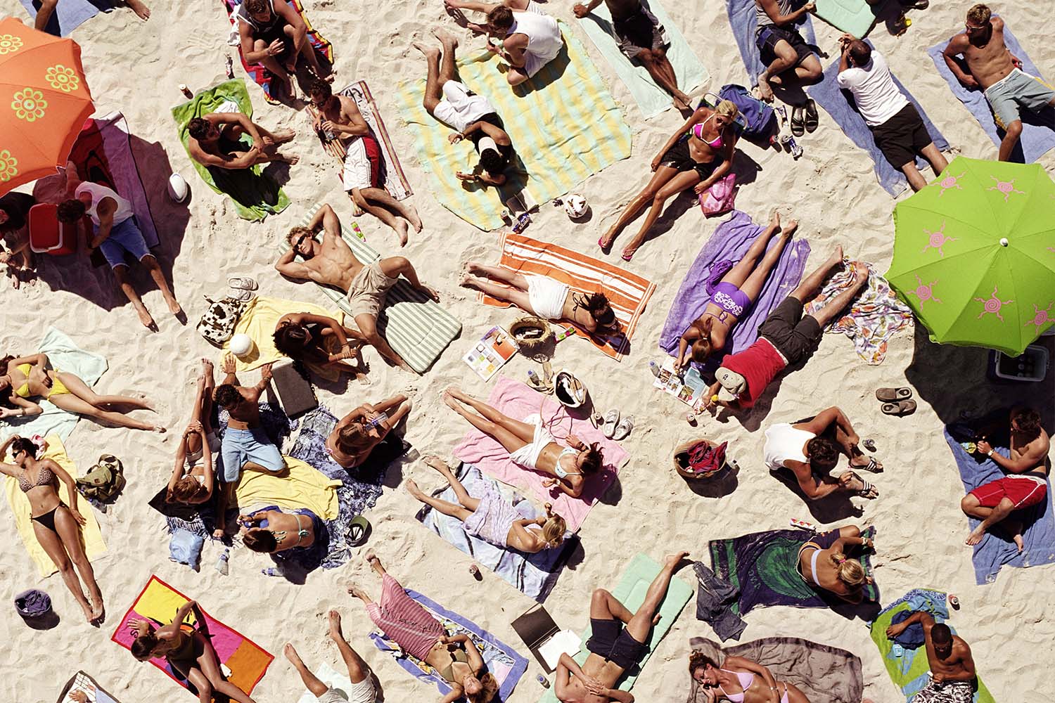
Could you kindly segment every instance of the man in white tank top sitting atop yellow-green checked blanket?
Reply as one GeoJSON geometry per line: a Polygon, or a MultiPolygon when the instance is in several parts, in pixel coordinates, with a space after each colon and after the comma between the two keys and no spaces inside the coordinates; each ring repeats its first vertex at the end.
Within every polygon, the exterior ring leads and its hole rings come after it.
{"type": "Polygon", "coordinates": [[[444,4],[460,25],[501,41],[498,46],[488,43],[487,48],[509,63],[505,80],[510,85],[519,85],[537,74],[557,58],[564,45],[557,20],[544,14],[534,0],[503,0],[499,4],[444,0],[444,4]],[[461,9],[487,13],[487,23],[469,22],[461,9]]]}

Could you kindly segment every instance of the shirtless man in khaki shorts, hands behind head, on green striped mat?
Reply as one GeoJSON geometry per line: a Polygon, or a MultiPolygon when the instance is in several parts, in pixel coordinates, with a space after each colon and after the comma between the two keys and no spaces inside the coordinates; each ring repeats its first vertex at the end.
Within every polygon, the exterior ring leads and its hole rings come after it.
{"type": "MultiPolygon", "coordinates": [[[[290,278],[310,279],[346,291],[351,317],[366,344],[372,345],[392,364],[411,370],[378,332],[378,315],[384,307],[385,295],[401,274],[428,297],[440,299],[436,291],[418,280],[410,262],[402,256],[388,256],[363,266],[341,238],[341,221],[328,204],[319,209],[308,227],[294,227],[287,236],[290,249],[275,262],[275,270],[290,278]],[[321,242],[315,240],[319,230],[323,231],[321,242]],[[303,260],[298,261],[298,256],[303,260]]],[[[346,326],[347,317],[345,315],[346,326]]]]}

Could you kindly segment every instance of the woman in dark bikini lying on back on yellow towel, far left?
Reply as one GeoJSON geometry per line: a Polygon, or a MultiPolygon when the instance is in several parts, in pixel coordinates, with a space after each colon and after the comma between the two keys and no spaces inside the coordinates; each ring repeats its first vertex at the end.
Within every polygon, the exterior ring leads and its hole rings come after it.
{"type": "Polygon", "coordinates": [[[37,445],[32,440],[17,434],[0,445],[0,457],[5,456],[7,448],[12,451],[14,464],[0,463],[0,472],[18,480],[18,487],[30,501],[33,533],[37,542],[44,548],[66,588],[77,599],[88,622],[98,625],[104,617],[102,592],[95,583],[92,564],[84,554],[80,543],[80,526],[84,516],[77,512],[77,484],[66,473],[65,469],[50,458],[37,458],[37,445]],[[56,479],[66,485],[70,495],[70,506],[66,507],[59,497],[56,479]],[[74,566],[77,570],[74,571],[74,566]],[[77,579],[80,573],[80,580],[77,579]],[[84,598],[80,582],[88,587],[91,605],[84,598]]]}

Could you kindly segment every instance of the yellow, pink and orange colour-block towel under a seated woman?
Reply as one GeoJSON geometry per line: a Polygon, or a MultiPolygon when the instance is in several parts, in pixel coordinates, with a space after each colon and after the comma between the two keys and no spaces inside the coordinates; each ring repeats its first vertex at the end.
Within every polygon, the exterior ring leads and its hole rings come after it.
{"type": "MultiPolygon", "coordinates": [[[[131,649],[135,636],[129,629],[129,620],[149,620],[153,621],[155,626],[166,625],[172,622],[176,610],[189,600],[169,584],[151,575],[150,581],[136,597],[132,607],[121,618],[117,629],[114,630],[110,639],[126,649],[131,649]]],[[[212,618],[208,612],[205,612],[204,608],[202,611],[205,613],[206,623],[209,626],[209,639],[216,650],[216,657],[220,664],[227,665],[227,668],[231,670],[227,680],[247,694],[252,694],[253,687],[264,678],[264,673],[267,672],[267,667],[271,664],[274,656],[268,653],[249,638],[212,618]]],[[[194,624],[193,613],[188,616],[187,623],[194,624]]],[[[190,690],[189,682],[173,669],[164,657],[155,657],[150,660],[150,663],[165,671],[180,686],[190,690]]]]}

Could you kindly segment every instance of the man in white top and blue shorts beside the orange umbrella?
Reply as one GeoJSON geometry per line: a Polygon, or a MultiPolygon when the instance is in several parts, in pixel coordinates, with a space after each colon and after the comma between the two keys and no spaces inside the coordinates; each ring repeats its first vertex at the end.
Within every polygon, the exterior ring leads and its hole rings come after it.
{"type": "Polygon", "coordinates": [[[183,308],[165,279],[161,267],[150,253],[147,242],[135,221],[135,211],[132,203],[122,198],[112,189],[99,183],[81,181],[77,177],[77,169],[73,163],[66,164],[66,194],[70,199],[59,204],[58,218],[62,222],[79,222],[85,215],[92,219],[92,234],[87,236],[89,250],[98,248],[114,272],[114,278],[121,291],[128,296],[139,315],[139,321],[147,329],[156,332],[157,325],[139,298],[135,288],[128,278],[129,265],[126,254],[132,254],[148,271],[157,288],[160,289],[169,312],[181,324],[187,323],[183,308]]]}

